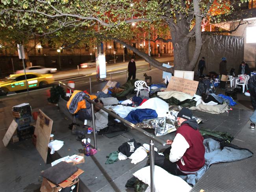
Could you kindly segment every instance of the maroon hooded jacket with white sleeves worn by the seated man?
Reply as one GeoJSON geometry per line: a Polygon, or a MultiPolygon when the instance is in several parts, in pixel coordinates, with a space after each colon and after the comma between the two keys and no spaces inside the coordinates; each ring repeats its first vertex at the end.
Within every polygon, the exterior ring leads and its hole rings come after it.
{"type": "Polygon", "coordinates": [[[204,138],[195,119],[184,121],[176,131],[169,155],[184,174],[193,174],[204,166],[204,138]]]}

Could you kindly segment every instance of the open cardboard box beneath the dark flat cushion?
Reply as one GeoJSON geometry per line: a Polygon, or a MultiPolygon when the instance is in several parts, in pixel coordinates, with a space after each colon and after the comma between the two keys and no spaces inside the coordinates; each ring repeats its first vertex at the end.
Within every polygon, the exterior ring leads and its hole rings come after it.
{"type": "Polygon", "coordinates": [[[70,187],[70,191],[78,192],[78,184],[79,179],[78,176],[83,173],[83,170],[78,169],[73,175],[71,175],[68,179],[59,183],[59,185],[55,185],[54,183],[50,182],[46,178],[43,178],[40,191],[41,192],[58,192],[62,188],[70,187]]]}

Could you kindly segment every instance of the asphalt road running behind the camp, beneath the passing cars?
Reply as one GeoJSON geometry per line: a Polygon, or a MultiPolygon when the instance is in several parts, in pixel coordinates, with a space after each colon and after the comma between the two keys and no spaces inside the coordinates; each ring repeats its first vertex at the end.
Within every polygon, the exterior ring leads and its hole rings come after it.
{"type": "MultiPolygon", "coordinates": [[[[163,63],[173,63],[173,57],[163,57],[163,58],[157,58],[158,61],[163,62],[163,63]]],[[[127,66],[128,63],[117,63],[117,64],[112,64],[112,65],[108,65],[106,67],[107,69],[107,80],[112,80],[113,81],[117,81],[121,84],[126,82],[126,72],[124,72],[125,70],[127,70],[127,66]],[[111,74],[111,75],[110,75],[111,74]]],[[[139,79],[144,79],[143,77],[143,73],[147,73],[148,74],[148,70],[150,70],[150,72],[152,71],[159,71],[158,69],[149,66],[149,64],[144,61],[144,60],[140,60],[140,61],[136,61],[136,67],[137,67],[137,74],[136,74],[136,78],[139,79]]],[[[95,68],[87,68],[87,69],[80,69],[79,70],[79,74],[77,70],[68,70],[68,71],[62,71],[62,72],[58,72],[54,75],[54,79],[56,79],[56,81],[54,82],[54,84],[58,84],[58,81],[61,81],[63,83],[67,83],[68,81],[72,80],[75,82],[76,87],[75,89],[78,90],[87,90],[88,92],[90,92],[90,86],[89,86],[89,82],[91,79],[91,89],[92,92],[94,91],[98,91],[101,90],[104,85],[106,84],[106,81],[97,81],[96,79],[96,69],[95,68]]],[[[128,73],[127,73],[128,76],[128,73]]],[[[33,88],[33,89],[29,89],[29,92],[42,92],[45,93],[47,89],[49,89],[52,85],[49,85],[49,87],[40,89],[40,88],[33,88]]],[[[0,96],[0,100],[3,100],[6,97],[10,97],[10,96],[15,96],[17,94],[26,94],[26,90],[20,90],[17,92],[9,92],[9,94],[7,94],[7,96],[0,96]]]]}

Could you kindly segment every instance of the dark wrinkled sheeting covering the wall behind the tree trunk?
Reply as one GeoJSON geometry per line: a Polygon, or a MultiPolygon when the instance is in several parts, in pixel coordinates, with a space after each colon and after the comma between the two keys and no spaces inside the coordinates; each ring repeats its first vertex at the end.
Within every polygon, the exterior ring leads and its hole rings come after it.
{"type": "MultiPolygon", "coordinates": [[[[219,74],[219,63],[221,57],[227,58],[227,70],[235,68],[238,71],[239,64],[243,61],[244,56],[244,39],[243,37],[231,35],[202,35],[202,49],[195,66],[195,72],[198,69],[198,62],[205,57],[206,69],[204,74],[215,71],[219,74]]],[[[189,42],[189,59],[192,59],[195,50],[195,39],[189,42]]]]}

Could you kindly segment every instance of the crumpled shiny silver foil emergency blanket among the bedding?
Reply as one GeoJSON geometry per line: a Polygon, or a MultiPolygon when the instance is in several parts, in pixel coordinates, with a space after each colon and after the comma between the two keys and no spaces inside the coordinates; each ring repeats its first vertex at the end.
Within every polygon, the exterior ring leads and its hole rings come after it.
{"type": "MultiPolygon", "coordinates": [[[[167,117],[154,118],[154,119],[145,119],[141,123],[137,123],[138,127],[142,129],[154,129],[156,136],[166,135],[173,131],[176,131],[177,125],[177,114],[182,109],[182,107],[177,105],[169,106],[169,112],[167,117]]],[[[197,123],[200,123],[202,120],[198,117],[192,116],[197,120],[197,123]]]]}

